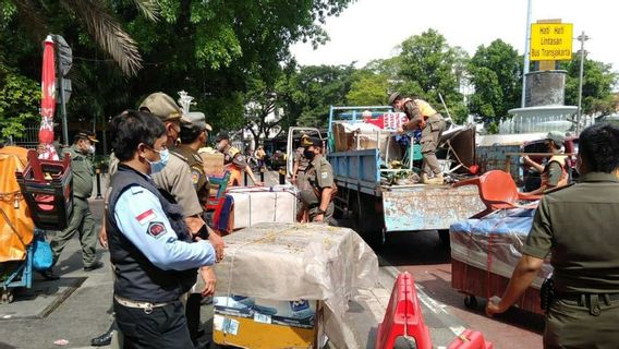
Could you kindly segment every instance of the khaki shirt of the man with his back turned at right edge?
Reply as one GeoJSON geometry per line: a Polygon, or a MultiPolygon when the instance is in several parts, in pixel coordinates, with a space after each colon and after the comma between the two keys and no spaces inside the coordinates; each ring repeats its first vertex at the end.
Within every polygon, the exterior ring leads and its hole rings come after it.
{"type": "Polygon", "coordinates": [[[558,292],[619,292],[619,179],[591,172],[578,184],[546,194],[522,248],[545,258],[551,253],[558,292]]]}

